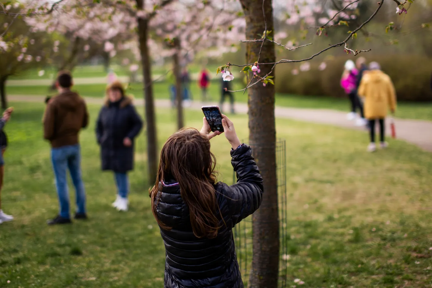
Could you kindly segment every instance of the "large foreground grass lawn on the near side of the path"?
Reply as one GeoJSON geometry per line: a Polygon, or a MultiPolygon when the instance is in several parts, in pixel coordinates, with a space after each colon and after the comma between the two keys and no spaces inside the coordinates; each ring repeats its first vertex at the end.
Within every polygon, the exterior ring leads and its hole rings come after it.
{"type": "MultiPolygon", "coordinates": [[[[130,174],[130,211],[119,213],[111,207],[113,176],[99,170],[99,107],[90,106],[92,125],[81,134],[90,219],[48,227],[58,204],[41,135],[44,106],[11,104],[2,203],[16,220],[0,225],[0,287],[162,287],[165,254],[150,209],[145,135],[130,174]]],[[[201,119],[186,111],[187,125],[199,128],[201,119]]],[[[157,120],[162,146],[175,131],[175,113],[159,109],[157,120]]],[[[232,120],[246,139],[247,117],[232,120]]],[[[295,278],[302,287],[432,285],[432,154],[392,139],[388,150],[369,154],[362,131],[285,119],[276,125],[286,139],[288,287],[295,278]]],[[[222,136],[212,140],[227,183],[229,148],[222,136]]]]}

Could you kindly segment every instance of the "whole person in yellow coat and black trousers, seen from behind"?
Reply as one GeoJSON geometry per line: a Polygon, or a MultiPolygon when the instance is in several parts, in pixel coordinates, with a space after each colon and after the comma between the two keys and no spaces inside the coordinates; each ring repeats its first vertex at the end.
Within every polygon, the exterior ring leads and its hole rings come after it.
{"type": "Polygon", "coordinates": [[[380,146],[388,146],[384,141],[384,119],[390,109],[392,113],[396,110],[396,92],[390,77],[381,71],[377,62],[369,64],[369,70],[365,72],[359,86],[359,95],[364,97],[365,118],[368,119],[371,142],[368,146],[369,152],[376,150],[375,144],[375,122],[380,125],[380,146]]]}

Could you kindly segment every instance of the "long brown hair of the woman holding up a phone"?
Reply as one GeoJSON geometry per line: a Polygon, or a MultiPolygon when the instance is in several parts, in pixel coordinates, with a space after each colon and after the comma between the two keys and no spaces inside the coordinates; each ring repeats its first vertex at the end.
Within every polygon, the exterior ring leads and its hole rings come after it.
{"type": "MultiPolygon", "coordinates": [[[[162,229],[169,230],[159,220],[156,206],[164,179],[175,179],[180,194],[189,207],[191,225],[196,237],[214,238],[220,228],[216,217],[215,175],[216,157],[210,152],[210,141],[197,129],[188,128],[172,134],[161,151],[155,186],[149,191],[152,212],[162,229]],[[157,199],[157,201],[156,201],[157,199]]],[[[219,211],[220,212],[220,211],[219,211]]]]}

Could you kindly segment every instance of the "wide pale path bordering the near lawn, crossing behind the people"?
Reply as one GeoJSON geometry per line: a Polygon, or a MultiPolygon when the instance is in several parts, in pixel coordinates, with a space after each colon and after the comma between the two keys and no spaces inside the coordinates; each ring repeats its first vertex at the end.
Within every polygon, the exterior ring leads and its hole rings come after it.
{"type": "MultiPolygon", "coordinates": [[[[85,97],[86,102],[89,104],[101,105],[103,99],[95,97],[85,97]]],[[[32,95],[11,95],[9,96],[10,101],[15,102],[43,102],[43,96],[32,96],[32,95]]],[[[143,106],[143,99],[135,99],[135,105],[143,106]]],[[[156,99],[156,107],[168,108],[171,107],[171,102],[168,99],[156,99]]],[[[194,101],[187,108],[200,110],[202,105],[218,105],[214,103],[202,103],[200,101],[194,101]]],[[[228,104],[227,104],[228,105],[228,104]]],[[[225,111],[228,110],[228,106],[225,111]]],[[[235,109],[238,114],[246,114],[248,112],[248,106],[245,103],[236,103],[235,109]]],[[[343,128],[351,128],[357,130],[365,130],[364,127],[356,127],[352,121],[346,120],[346,113],[328,109],[300,109],[300,108],[288,108],[279,107],[275,108],[275,115],[277,118],[294,119],[304,122],[312,122],[318,124],[333,125],[343,128]]],[[[394,119],[396,126],[396,135],[398,139],[416,144],[426,151],[432,152],[432,122],[422,120],[410,120],[410,119],[394,119]]],[[[386,128],[387,134],[390,133],[389,121],[386,122],[388,126],[386,128]]]]}

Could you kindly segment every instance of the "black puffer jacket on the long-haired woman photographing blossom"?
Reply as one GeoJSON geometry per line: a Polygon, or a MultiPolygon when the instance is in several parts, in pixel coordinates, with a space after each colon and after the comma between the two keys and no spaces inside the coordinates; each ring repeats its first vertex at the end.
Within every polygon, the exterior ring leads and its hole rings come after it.
{"type": "MultiPolygon", "coordinates": [[[[191,228],[189,208],[175,180],[165,180],[156,201],[159,219],[171,230],[161,229],[165,243],[165,288],[242,288],[235,255],[232,228],[254,213],[261,204],[263,179],[252,157],[251,147],[241,145],[231,151],[238,181],[228,186],[214,185],[222,212],[221,227],[214,239],[197,238],[191,228]]],[[[215,211],[219,215],[219,211],[215,211]]]]}

